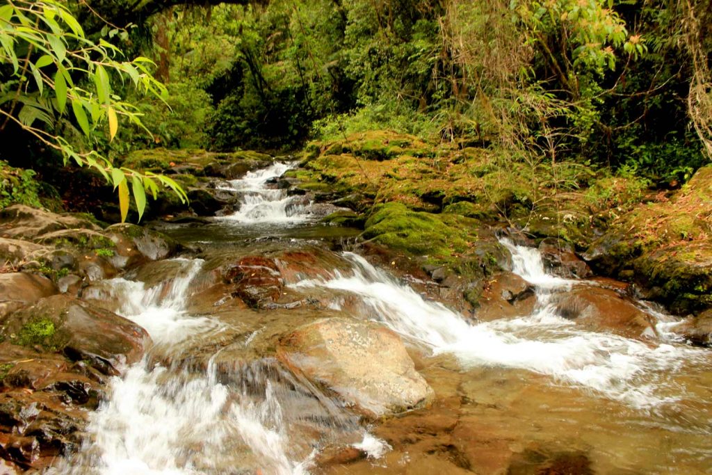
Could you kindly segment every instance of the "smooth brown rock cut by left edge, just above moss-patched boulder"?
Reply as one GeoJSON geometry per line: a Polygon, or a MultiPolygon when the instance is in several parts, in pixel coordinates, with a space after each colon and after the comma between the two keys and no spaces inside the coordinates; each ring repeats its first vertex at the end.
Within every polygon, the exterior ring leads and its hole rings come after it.
{"type": "Polygon", "coordinates": [[[0,317],[58,292],[54,283],[33,273],[0,273],[0,317]]]}

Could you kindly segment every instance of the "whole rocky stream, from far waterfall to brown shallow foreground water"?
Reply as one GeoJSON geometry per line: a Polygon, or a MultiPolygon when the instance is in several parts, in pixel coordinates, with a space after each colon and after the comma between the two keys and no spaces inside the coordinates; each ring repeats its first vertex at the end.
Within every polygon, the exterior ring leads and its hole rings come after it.
{"type": "Polygon", "coordinates": [[[318,224],[312,204],[273,187],[290,167],[221,184],[241,195],[233,214],[162,229],[200,246],[199,259],[164,261],[150,284],[103,282],[103,298],[154,345],[112,378],[83,447],[53,473],[712,472],[712,357],[669,333],[669,315],[638,302],[656,319],[646,338],[582,328],[555,298],[599,284],[552,276],[536,249],[502,239],[513,273],[533,285],[533,311],[466,318],[360,254],[331,251],[350,249],[359,231],[318,224]],[[318,309],[195,303],[229,256],[305,248],[335,267],[286,278],[283,298],[318,309]],[[431,405],[370,420],[276,360],[269,338],[330,315],[394,330],[434,390],[431,405]],[[360,455],[326,456],[345,448],[360,455]]]}

